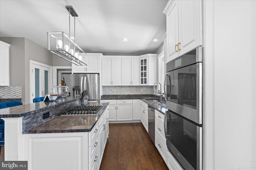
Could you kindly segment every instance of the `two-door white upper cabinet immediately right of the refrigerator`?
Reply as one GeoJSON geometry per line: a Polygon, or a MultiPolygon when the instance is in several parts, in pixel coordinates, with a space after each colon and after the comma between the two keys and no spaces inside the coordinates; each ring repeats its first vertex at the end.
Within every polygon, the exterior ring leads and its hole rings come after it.
{"type": "Polygon", "coordinates": [[[122,85],[122,59],[102,59],[102,86],[122,85]]]}

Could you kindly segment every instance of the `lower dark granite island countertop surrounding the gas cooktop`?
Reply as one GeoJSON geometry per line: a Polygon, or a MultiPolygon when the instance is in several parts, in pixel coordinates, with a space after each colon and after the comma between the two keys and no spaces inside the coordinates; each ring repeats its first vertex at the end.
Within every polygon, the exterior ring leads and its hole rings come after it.
{"type": "MultiPolygon", "coordinates": [[[[89,104],[96,105],[96,104],[89,104]]],[[[58,115],[36,127],[28,129],[23,133],[64,133],[64,132],[90,132],[100,116],[106,110],[108,103],[100,104],[102,109],[97,115],[58,115]]]]}

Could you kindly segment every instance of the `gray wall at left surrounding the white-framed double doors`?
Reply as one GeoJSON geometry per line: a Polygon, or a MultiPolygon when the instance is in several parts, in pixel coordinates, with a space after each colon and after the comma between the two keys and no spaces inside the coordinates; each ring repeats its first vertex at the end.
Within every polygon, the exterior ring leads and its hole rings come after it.
{"type": "Polygon", "coordinates": [[[0,37],[10,44],[10,86],[22,86],[22,103],[30,103],[29,61],[52,66],[52,53],[26,38],[0,37]]]}

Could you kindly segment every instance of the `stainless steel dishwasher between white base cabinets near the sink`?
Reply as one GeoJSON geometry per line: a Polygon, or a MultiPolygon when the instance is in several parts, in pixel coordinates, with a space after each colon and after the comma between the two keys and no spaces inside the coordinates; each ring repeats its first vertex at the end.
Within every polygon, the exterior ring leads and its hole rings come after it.
{"type": "Polygon", "coordinates": [[[148,135],[155,144],[155,109],[148,105],[148,135]]]}

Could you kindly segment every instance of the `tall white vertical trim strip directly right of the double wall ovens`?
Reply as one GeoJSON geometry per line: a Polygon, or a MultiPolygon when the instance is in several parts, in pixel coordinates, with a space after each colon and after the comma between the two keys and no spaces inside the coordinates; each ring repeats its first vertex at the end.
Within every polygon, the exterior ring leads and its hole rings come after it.
{"type": "Polygon", "coordinates": [[[215,169],[214,0],[203,0],[203,169],[215,169]],[[206,88],[207,87],[207,88],[206,88]],[[207,114],[206,114],[207,113],[207,114]]]}

